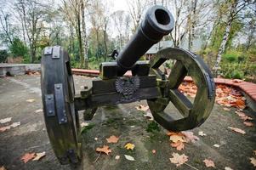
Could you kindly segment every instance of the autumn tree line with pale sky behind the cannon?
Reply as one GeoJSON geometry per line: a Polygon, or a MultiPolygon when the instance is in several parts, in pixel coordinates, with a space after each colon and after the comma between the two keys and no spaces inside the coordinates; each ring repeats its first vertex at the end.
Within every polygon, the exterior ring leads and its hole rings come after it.
{"type": "Polygon", "coordinates": [[[255,79],[256,3],[253,0],[0,1],[0,62],[22,57],[40,62],[46,46],[64,46],[72,65],[98,68],[112,50],[122,50],[146,8],[160,4],[174,14],[174,31],[164,37],[174,47],[201,54],[216,74],[255,79]],[[196,41],[200,48],[196,49],[196,41]],[[185,45],[186,44],[186,45],[185,45]]]}

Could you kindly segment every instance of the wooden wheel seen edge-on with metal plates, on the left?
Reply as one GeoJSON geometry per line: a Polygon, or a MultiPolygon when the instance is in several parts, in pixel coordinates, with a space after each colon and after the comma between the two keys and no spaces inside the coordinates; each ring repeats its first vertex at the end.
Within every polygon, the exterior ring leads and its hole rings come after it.
{"type": "Polygon", "coordinates": [[[61,164],[81,160],[79,119],[69,55],[60,46],[43,50],[41,61],[43,113],[48,138],[61,164]]]}

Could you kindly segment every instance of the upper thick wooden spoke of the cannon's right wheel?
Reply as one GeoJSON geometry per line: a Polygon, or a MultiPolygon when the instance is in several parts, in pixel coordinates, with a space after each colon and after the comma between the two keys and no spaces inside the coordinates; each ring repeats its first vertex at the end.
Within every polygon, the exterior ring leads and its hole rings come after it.
{"type": "Polygon", "coordinates": [[[174,67],[168,77],[169,88],[179,88],[180,83],[184,80],[187,71],[181,61],[177,60],[174,67]]]}

